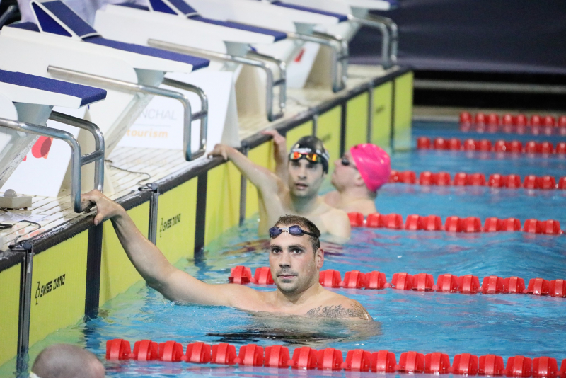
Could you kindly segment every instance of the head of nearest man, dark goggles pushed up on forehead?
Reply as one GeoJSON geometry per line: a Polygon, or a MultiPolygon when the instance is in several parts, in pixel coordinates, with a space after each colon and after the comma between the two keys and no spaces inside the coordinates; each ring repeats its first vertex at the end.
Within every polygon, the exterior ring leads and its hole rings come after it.
{"type": "Polygon", "coordinates": [[[270,229],[270,269],[283,294],[292,297],[318,283],[324,263],[319,238],[318,227],[296,215],[280,217],[270,229]]]}

